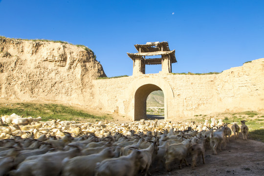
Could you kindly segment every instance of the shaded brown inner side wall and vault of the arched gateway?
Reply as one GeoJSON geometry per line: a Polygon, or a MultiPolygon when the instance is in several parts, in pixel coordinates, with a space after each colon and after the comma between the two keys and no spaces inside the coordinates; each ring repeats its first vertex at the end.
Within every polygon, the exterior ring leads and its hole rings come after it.
{"type": "MultiPolygon", "coordinates": [[[[145,84],[139,87],[135,92],[134,98],[134,120],[147,119],[147,98],[155,90],[161,90],[154,84],[145,84]]],[[[166,107],[164,107],[164,110],[166,107]]],[[[163,117],[164,118],[164,117],[163,117]]]]}

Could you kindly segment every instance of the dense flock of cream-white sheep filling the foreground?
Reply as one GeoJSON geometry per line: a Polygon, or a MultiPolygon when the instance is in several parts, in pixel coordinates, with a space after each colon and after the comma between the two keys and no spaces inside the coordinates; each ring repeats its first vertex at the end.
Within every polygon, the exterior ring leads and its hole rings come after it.
{"type": "MultiPolygon", "coordinates": [[[[241,129],[247,139],[245,121],[231,127],[235,138],[241,129]]],[[[168,172],[175,162],[182,168],[192,159],[192,168],[204,151],[214,154],[226,146],[232,133],[221,119],[198,122],[130,123],[23,118],[5,115],[0,121],[0,176],[135,176],[150,175],[150,168],[168,172]]],[[[200,163],[199,163],[200,164],[200,163]]]]}

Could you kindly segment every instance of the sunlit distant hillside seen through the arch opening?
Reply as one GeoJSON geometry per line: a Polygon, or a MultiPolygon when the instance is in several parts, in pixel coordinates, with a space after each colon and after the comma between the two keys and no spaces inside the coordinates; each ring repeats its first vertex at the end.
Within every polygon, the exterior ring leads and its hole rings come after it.
{"type": "Polygon", "coordinates": [[[150,93],[147,98],[147,107],[164,107],[163,91],[157,90],[150,93]]]}

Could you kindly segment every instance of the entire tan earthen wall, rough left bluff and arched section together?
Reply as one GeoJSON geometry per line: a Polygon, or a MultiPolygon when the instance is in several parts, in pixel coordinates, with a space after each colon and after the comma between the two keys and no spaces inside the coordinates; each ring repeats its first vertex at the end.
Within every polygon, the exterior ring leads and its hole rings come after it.
{"type": "Polygon", "coordinates": [[[91,51],[72,44],[0,38],[0,99],[63,103],[139,120],[154,90],[165,119],[264,110],[264,58],[213,75],[106,76],[91,51]]]}

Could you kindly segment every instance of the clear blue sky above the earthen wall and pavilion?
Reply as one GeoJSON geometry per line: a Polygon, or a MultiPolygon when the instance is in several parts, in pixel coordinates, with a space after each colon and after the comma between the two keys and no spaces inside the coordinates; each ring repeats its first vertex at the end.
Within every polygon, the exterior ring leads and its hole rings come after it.
{"type": "Polygon", "coordinates": [[[0,35],[84,44],[108,77],[132,75],[126,53],[156,41],[176,50],[173,72],[221,72],[264,58],[263,9],[264,0],[0,0],[0,35]]]}

